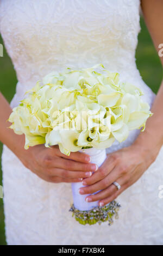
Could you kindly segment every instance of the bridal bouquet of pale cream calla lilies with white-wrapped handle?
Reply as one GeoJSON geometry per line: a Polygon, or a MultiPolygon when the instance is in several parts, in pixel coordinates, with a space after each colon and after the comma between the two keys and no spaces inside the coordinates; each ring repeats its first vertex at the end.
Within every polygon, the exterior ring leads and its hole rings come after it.
{"type": "MultiPolygon", "coordinates": [[[[102,64],[92,68],[52,72],[37,82],[9,117],[11,129],[26,136],[25,149],[37,144],[59,145],[61,153],[78,150],[89,154],[98,166],[105,161],[105,149],[115,140],[127,139],[130,130],[145,129],[152,115],[141,99],[142,92],[130,83],[122,83],[119,74],[102,64]]],[[[72,184],[70,211],[81,224],[95,224],[117,217],[120,204],[112,201],[99,207],[78,193],[82,182],[72,184]]]]}

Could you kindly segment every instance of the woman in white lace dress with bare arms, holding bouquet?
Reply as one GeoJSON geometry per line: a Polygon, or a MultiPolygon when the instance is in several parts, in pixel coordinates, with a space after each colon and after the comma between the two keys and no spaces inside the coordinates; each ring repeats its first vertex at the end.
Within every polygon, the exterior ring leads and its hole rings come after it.
{"type": "MultiPolygon", "coordinates": [[[[1,0],[0,31],[18,83],[10,105],[1,95],[5,232],[9,245],[158,245],[163,243],[163,84],[158,95],[135,64],[140,5],[156,49],[163,42],[161,0],[1,0]],[[51,71],[103,63],[140,87],[154,113],[145,132],[115,142],[96,169],[89,155],[65,156],[57,146],[23,148],[24,136],[8,129],[11,109],[51,71]],[[73,160],[73,161],[72,161],[73,160]],[[111,227],[80,225],[68,212],[71,182],[84,179],[88,202],[121,203],[111,227]],[[112,184],[121,185],[120,190],[112,184]]],[[[161,58],[162,61],[162,58],[161,58]]],[[[163,61],[162,61],[163,64],[163,61]]]]}

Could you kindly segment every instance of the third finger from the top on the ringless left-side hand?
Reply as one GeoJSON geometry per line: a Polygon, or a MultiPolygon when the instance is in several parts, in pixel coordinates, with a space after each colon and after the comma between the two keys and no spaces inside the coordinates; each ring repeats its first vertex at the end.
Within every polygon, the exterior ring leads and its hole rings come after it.
{"type": "Polygon", "coordinates": [[[59,169],[59,168],[54,168],[54,169],[50,169],[48,171],[48,174],[49,175],[52,175],[52,176],[59,176],[59,177],[62,177],[62,178],[72,178],[72,179],[75,179],[75,178],[82,178],[81,181],[83,180],[83,178],[85,177],[89,177],[92,175],[92,172],[76,172],[76,171],[73,171],[73,170],[65,170],[65,169],[59,169]]]}

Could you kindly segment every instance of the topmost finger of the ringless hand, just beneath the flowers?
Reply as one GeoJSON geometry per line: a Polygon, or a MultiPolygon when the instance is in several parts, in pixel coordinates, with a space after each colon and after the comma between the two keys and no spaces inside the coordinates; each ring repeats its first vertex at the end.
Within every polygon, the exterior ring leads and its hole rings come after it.
{"type": "Polygon", "coordinates": [[[91,157],[85,153],[82,152],[71,152],[69,156],[62,154],[59,150],[59,147],[57,148],[57,155],[60,157],[64,157],[65,159],[71,159],[77,162],[84,162],[84,163],[90,163],[91,157]]]}

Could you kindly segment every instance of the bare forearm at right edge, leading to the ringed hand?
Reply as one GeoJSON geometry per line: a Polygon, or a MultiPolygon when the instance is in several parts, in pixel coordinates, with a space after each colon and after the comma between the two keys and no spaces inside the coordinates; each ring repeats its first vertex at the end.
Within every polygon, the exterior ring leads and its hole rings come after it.
{"type": "Polygon", "coordinates": [[[143,150],[150,151],[155,157],[163,144],[163,82],[151,111],[153,115],[147,120],[145,131],[140,132],[134,145],[139,145],[143,150]]]}

